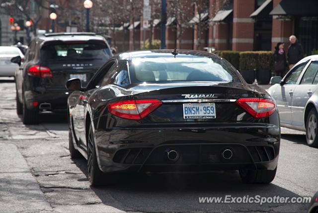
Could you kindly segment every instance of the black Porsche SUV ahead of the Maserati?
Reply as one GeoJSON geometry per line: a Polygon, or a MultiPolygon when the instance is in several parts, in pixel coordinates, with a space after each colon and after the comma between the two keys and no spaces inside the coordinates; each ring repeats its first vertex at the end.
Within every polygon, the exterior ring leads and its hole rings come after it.
{"type": "MultiPolygon", "coordinates": [[[[79,78],[86,85],[111,56],[105,38],[95,33],[48,33],[33,39],[15,75],[16,108],[23,123],[38,123],[41,111],[66,112],[65,82],[79,78]]],[[[19,63],[19,58],[12,61],[19,63]]]]}

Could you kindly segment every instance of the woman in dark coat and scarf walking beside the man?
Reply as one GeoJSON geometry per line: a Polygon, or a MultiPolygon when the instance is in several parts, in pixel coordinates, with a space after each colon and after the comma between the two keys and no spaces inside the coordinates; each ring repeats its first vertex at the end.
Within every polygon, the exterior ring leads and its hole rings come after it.
{"type": "Polygon", "coordinates": [[[276,76],[283,78],[286,71],[287,61],[284,51],[284,43],[278,42],[274,52],[274,71],[276,76]]]}

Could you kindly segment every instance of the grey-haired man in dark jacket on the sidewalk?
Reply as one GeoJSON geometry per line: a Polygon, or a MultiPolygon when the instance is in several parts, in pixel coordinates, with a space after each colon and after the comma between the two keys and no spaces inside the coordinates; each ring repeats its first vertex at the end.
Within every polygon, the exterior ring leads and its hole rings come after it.
{"type": "Polygon", "coordinates": [[[295,35],[289,37],[290,45],[288,47],[288,63],[289,69],[292,69],[297,62],[304,58],[304,49],[302,45],[298,42],[295,35]]]}

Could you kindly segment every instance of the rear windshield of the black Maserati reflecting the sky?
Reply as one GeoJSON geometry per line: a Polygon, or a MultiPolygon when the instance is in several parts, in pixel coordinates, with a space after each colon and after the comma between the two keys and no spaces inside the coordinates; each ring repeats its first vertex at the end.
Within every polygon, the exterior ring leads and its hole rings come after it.
{"type": "Polygon", "coordinates": [[[162,81],[240,82],[231,64],[216,57],[136,58],[130,63],[129,72],[132,83],[162,81]]]}

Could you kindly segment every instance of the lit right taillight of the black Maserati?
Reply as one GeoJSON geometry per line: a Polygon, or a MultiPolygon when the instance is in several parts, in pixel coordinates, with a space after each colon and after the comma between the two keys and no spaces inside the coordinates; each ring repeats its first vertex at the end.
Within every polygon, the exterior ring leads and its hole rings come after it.
{"type": "Polygon", "coordinates": [[[275,103],[269,99],[241,98],[236,103],[255,118],[268,117],[275,111],[275,103]]]}

